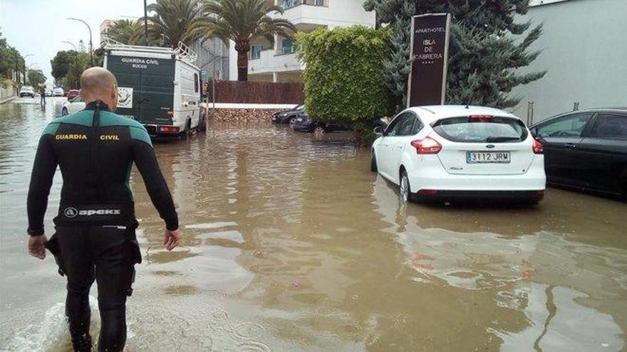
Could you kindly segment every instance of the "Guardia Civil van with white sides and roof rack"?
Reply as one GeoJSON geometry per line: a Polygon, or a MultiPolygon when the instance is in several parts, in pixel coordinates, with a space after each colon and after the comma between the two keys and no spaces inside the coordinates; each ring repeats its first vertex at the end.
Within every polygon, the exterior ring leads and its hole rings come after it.
{"type": "Polygon", "coordinates": [[[185,44],[128,46],[105,38],[103,49],[104,68],[118,79],[119,114],[141,122],[152,137],[185,139],[207,128],[197,55],[185,44]]]}

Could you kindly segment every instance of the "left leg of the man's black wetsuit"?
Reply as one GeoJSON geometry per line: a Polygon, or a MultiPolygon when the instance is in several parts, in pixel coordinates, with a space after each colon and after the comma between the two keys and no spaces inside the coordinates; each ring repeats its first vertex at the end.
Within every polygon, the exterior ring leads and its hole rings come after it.
{"type": "Polygon", "coordinates": [[[95,278],[87,227],[56,227],[58,244],[68,277],[66,316],[74,351],[91,351],[89,289],[95,278]]]}

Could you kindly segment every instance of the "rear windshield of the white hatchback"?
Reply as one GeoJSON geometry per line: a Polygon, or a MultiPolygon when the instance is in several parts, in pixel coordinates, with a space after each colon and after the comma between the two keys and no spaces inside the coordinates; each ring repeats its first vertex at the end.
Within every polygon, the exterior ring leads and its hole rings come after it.
{"type": "Polygon", "coordinates": [[[522,121],[510,117],[450,117],[435,122],[432,127],[451,142],[511,143],[527,139],[527,128],[522,121]]]}

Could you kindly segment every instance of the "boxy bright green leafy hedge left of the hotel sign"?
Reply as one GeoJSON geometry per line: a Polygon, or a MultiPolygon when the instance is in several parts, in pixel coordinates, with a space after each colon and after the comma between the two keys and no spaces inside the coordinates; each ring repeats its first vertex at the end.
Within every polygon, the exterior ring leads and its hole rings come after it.
{"type": "Polygon", "coordinates": [[[305,66],[305,105],[316,121],[351,124],[358,134],[390,112],[381,63],[389,59],[390,31],[364,26],[298,33],[305,66]]]}

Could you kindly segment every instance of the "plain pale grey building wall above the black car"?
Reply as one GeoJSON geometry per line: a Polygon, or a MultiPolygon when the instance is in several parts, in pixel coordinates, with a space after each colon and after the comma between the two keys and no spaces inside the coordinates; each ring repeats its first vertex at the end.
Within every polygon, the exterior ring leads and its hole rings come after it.
{"type": "Polygon", "coordinates": [[[532,45],[543,50],[524,70],[546,70],[544,78],[517,87],[514,113],[534,121],[579,108],[627,107],[627,0],[568,0],[534,6],[517,21],[544,22],[532,45]]]}

